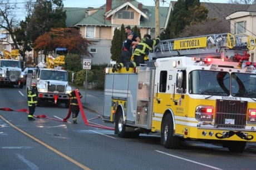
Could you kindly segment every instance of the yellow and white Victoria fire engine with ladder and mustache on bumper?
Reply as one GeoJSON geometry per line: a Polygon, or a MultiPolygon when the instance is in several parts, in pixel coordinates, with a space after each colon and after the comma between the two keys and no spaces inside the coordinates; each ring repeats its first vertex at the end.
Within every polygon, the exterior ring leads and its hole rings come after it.
{"type": "Polygon", "coordinates": [[[145,65],[105,68],[102,119],[120,137],[159,134],[165,148],[198,140],[243,152],[256,142],[254,47],[229,33],[162,40],[145,65]]]}

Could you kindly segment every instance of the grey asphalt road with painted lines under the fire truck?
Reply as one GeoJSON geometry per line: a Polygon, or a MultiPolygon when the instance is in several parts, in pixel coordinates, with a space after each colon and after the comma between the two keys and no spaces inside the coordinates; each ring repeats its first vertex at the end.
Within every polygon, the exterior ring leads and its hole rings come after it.
{"type": "MultiPolygon", "coordinates": [[[[25,89],[0,88],[0,108],[27,109],[25,89]]],[[[64,105],[44,104],[27,121],[27,114],[0,110],[1,169],[255,169],[256,152],[243,153],[200,142],[181,142],[178,150],[167,150],[154,135],[119,138],[106,129],[112,124],[96,119],[83,109],[78,124],[61,121],[67,115],[64,105]]],[[[68,119],[71,121],[71,118],[68,119]]]]}

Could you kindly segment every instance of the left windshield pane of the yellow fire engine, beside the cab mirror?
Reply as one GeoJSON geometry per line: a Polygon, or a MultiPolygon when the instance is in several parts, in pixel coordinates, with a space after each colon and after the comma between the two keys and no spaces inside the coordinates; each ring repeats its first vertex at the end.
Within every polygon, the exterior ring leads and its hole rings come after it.
{"type": "Polygon", "coordinates": [[[194,70],[189,73],[189,93],[201,95],[230,95],[230,74],[221,71],[194,70]]]}

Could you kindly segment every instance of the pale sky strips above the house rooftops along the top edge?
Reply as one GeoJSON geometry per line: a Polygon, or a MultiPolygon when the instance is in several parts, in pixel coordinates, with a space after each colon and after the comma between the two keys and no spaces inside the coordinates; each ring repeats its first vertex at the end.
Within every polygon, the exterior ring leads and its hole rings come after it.
{"type": "MultiPolygon", "coordinates": [[[[106,0],[62,0],[64,7],[100,7],[106,3],[106,0]]],[[[146,6],[155,6],[154,0],[137,0],[146,6]]],[[[162,3],[160,0],[160,6],[169,7],[170,0],[165,0],[165,3],[162,3]]],[[[200,0],[200,2],[207,3],[229,3],[229,0],[200,0]]]]}

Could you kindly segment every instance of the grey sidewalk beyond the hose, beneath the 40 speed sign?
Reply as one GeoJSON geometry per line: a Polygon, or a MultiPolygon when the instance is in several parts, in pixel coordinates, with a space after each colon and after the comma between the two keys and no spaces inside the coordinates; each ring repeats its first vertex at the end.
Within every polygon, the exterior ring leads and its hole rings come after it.
{"type": "MultiPolygon", "coordinates": [[[[72,86],[72,89],[74,87],[72,86]]],[[[97,114],[103,114],[103,100],[104,100],[104,91],[103,90],[85,90],[79,89],[81,95],[83,96],[81,99],[83,107],[97,114]],[[85,94],[86,91],[86,94],[85,94]]]]}

